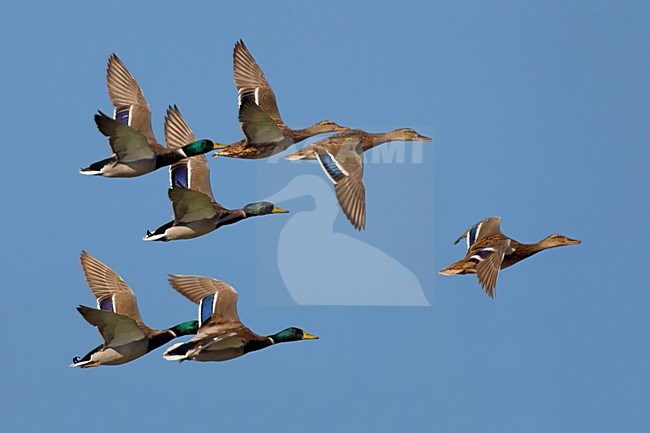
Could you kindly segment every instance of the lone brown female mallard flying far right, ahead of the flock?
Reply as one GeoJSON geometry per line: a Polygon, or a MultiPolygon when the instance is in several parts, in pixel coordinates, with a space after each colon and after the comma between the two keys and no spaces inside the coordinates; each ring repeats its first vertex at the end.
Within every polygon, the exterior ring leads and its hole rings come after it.
{"type": "Polygon", "coordinates": [[[467,240],[465,257],[441,270],[439,274],[477,274],[483,290],[490,298],[494,298],[500,269],[549,248],[580,243],[577,239],[555,233],[534,244],[522,244],[501,233],[500,225],[499,217],[487,218],[474,224],[454,242],[456,245],[463,238],[467,240]]]}

